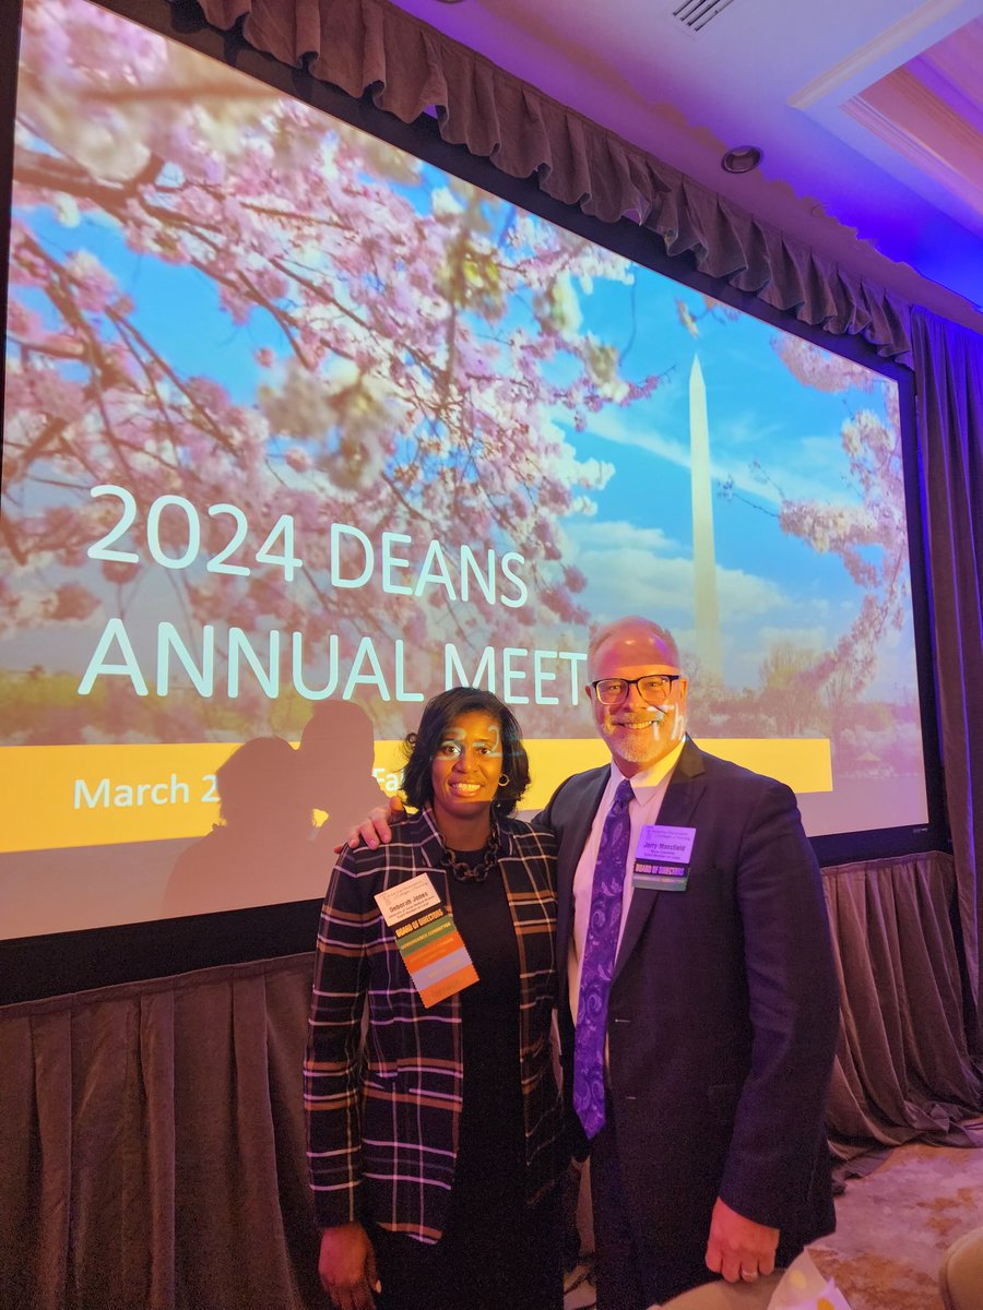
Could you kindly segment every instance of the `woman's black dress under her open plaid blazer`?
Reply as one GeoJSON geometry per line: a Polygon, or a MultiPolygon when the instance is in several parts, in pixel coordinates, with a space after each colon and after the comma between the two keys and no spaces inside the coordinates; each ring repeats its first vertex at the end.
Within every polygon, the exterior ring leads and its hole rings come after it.
{"type": "MultiPolygon", "coordinates": [[[[472,867],[482,852],[455,852],[472,867]]],[[[374,1227],[379,1310],[560,1310],[558,1189],[526,1204],[519,1081],[519,952],[505,884],[450,880],[451,912],[478,981],[460,994],[464,1091],[442,1239],[374,1227]]]]}

